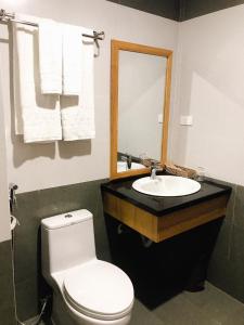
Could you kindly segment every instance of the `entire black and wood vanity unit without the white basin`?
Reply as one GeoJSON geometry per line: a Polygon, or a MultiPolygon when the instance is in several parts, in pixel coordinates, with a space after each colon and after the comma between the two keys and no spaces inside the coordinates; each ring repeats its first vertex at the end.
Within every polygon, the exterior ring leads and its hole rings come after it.
{"type": "Polygon", "coordinates": [[[134,180],[101,185],[110,250],[137,297],[156,308],[184,289],[204,288],[231,188],[205,181],[197,193],[157,197],[134,191],[134,180]]]}

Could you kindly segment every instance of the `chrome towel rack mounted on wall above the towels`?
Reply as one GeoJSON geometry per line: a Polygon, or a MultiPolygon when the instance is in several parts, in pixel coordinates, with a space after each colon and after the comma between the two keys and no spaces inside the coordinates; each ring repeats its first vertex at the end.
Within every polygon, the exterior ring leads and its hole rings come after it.
{"type": "MultiPolygon", "coordinates": [[[[9,22],[15,22],[15,23],[20,23],[20,24],[25,24],[25,25],[38,27],[37,23],[17,20],[17,18],[15,18],[15,13],[9,13],[4,9],[1,9],[0,10],[0,23],[9,23],[9,22]]],[[[82,34],[82,36],[94,39],[94,42],[95,42],[95,46],[97,46],[97,49],[98,49],[98,53],[95,54],[95,56],[99,56],[99,54],[100,54],[99,40],[104,40],[105,32],[93,30],[93,35],[82,34]]]]}

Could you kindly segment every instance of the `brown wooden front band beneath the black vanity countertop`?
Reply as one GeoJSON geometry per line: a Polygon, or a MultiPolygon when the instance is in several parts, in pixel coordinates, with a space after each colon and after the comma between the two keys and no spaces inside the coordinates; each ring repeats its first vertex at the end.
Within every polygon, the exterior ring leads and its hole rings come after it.
{"type": "Polygon", "coordinates": [[[193,207],[181,208],[175,212],[154,216],[133,204],[105,192],[104,211],[128,225],[154,243],[159,243],[195,226],[221,218],[226,214],[229,195],[211,198],[193,207]]]}

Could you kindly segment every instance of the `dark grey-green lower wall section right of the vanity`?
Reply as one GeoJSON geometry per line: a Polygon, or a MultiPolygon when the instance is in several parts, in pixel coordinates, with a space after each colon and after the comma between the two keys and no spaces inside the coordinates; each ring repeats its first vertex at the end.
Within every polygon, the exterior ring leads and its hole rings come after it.
{"type": "Polygon", "coordinates": [[[220,183],[230,185],[232,194],[209,262],[208,281],[244,302],[244,187],[220,183]]]}

